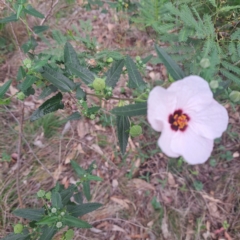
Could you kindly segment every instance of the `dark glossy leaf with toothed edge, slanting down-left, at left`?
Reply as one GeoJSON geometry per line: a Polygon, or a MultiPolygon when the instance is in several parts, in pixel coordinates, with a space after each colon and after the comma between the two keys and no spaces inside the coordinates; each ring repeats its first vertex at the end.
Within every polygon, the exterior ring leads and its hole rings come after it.
{"type": "Polygon", "coordinates": [[[61,102],[61,100],[62,100],[61,93],[58,93],[55,96],[51,97],[46,102],[44,102],[37,110],[33,112],[32,116],[30,117],[30,120],[35,121],[50,112],[55,112],[58,109],[63,109],[64,105],[61,102]]]}

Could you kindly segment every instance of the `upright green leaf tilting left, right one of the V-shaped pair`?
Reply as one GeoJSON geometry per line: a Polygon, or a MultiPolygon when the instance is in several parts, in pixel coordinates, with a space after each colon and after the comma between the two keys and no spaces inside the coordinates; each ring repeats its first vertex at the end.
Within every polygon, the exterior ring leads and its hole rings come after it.
{"type": "Polygon", "coordinates": [[[126,67],[129,76],[129,84],[130,88],[139,88],[144,86],[146,83],[143,81],[141,74],[139,73],[136,64],[131,59],[130,56],[126,57],[126,67]]]}

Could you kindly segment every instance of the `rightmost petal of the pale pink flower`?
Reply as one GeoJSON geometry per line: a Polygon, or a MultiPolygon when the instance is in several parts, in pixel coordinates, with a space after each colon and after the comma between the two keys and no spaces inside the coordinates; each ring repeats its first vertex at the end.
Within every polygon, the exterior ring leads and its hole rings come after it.
{"type": "Polygon", "coordinates": [[[192,121],[189,122],[189,127],[203,137],[209,139],[219,138],[227,129],[227,110],[214,99],[206,109],[190,115],[192,121]]]}

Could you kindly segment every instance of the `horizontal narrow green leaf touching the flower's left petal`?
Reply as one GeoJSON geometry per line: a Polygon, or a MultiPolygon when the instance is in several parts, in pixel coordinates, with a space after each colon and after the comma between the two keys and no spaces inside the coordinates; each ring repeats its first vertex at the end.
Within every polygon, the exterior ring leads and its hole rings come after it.
{"type": "Polygon", "coordinates": [[[127,106],[116,107],[112,109],[111,113],[117,116],[129,116],[129,117],[146,115],[147,103],[141,102],[141,103],[130,104],[127,106]]]}

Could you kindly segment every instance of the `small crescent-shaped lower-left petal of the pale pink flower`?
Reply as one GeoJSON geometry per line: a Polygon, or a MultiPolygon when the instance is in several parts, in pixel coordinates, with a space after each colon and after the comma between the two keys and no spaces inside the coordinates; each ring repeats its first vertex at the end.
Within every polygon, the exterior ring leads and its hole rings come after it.
{"type": "Polygon", "coordinates": [[[171,141],[177,132],[173,131],[170,127],[164,126],[160,138],[158,139],[158,146],[162,152],[172,158],[177,158],[180,154],[174,152],[171,148],[171,141]]]}

